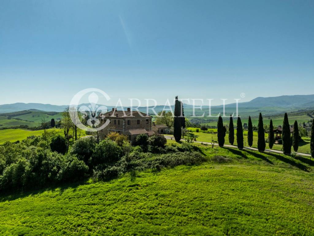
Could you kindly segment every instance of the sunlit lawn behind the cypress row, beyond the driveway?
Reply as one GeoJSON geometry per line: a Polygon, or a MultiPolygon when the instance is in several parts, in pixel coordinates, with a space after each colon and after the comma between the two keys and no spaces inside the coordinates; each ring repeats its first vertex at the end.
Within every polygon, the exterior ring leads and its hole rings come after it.
{"type": "MultiPolygon", "coordinates": [[[[199,142],[211,142],[212,139],[214,141],[217,141],[217,134],[211,134],[211,133],[204,133],[203,131],[199,130],[199,132],[196,132],[196,128],[187,128],[188,130],[191,130],[193,134],[196,137],[196,141],[199,142]]],[[[208,129],[206,132],[214,131],[217,132],[217,129],[208,129]]],[[[244,146],[247,146],[247,131],[243,132],[244,134],[244,146]]],[[[253,148],[257,148],[257,132],[253,132],[253,148]]],[[[265,133],[265,138],[268,138],[268,134],[265,133]]],[[[303,141],[299,143],[299,149],[298,152],[303,152],[303,153],[311,153],[311,147],[310,147],[310,138],[302,137],[303,141]]],[[[217,143],[217,142],[216,142],[217,143]]],[[[226,134],[225,136],[225,144],[230,144],[229,143],[229,135],[226,134]]],[[[237,145],[236,142],[236,130],[235,130],[235,142],[234,145],[237,145]]],[[[268,143],[266,143],[266,149],[269,149],[268,143]]],[[[275,150],[282,150],[282,145],[279,144],[274,144],[273,149],[275,150]]],[[[293,149],[291,149],[293,150],[293,149]]]]}

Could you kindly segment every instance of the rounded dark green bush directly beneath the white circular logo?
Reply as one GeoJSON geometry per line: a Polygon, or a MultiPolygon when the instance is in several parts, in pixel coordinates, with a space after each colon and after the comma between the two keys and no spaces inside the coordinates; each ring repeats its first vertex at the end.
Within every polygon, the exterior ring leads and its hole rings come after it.
{"type": "Polygon", "coordinates": [[[91,138],[79,138],[70,149],[70,154],[77,154],[78,160],[83,160],[86,165],[95,150],[95,140],[91,138]]]}

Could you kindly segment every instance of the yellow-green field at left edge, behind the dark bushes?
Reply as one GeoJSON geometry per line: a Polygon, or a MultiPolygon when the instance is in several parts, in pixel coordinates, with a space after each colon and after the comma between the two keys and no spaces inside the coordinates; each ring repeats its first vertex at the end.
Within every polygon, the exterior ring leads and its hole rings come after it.
{"type": "MultiPolygon", "coordinates": [[[[47,132],[50,132],[52,129],[47,129],[47,132]]],[[[60,129],[54,129],[57,132],[62,132],[60,129]]],[[[4,129],[0,130],[0,144],[5,143],[7,141],[9,142],[15,142],[15,141],[21,141],[28,136],[35,135],[40,136],[44,130],[24,130],[24,129],[4,129]]]]}

